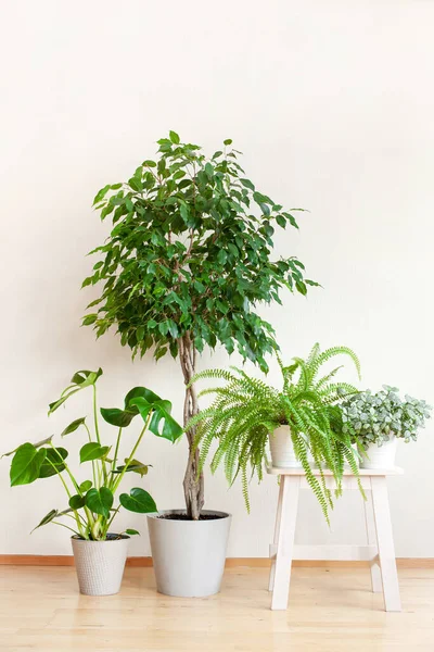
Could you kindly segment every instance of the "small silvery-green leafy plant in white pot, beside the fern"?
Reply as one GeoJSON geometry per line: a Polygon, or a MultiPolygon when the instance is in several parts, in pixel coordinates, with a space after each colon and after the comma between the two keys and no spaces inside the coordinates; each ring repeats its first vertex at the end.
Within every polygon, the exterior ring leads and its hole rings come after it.
{"type": "Polygon", "coordinates": [[[376,393],[367,390],[348,397],[341,406],[342,430],[363,453],[362,468],[392,468],[398,439],[416,441],[430,418],[431,405],[408,394],[403,400],[398,392],[383,385],[376,393]]]}

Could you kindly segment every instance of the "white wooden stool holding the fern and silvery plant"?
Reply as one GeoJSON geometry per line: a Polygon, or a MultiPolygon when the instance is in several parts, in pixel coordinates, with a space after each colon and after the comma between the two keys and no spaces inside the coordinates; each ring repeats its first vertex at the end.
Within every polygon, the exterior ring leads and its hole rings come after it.
{"type": "MultiPolygon", "coordinates": [[[[312,468],[316,476],[319,472],[312,468]]],[[[267,473],[280,477],[275,540],[270,546],[271,569],[269,590],[272,591],[271,609],[288,607],[292,560],[357,560],[371,563],[372,591],[383,592],[385,611],[399,612],[400,598],[396,572],[395,548],[386,476],[401,475],[401,468],[362,469],[360,481],[367,494],[365,518],[367,546],[294,546],[297,518],[298,491],[308,488],[303,468],[270,466],[267,473]]],[[[330,489],[335,487],[332,473],[324,471],[330,489]]],[[[357,489],[357,477],[348,469],[342,479],[343,491],[357,489]]],[[[360,497],[362,500],[362,498],[360,497]]],[[[342,500],[342,499],[340,499],[342,500]]]]}

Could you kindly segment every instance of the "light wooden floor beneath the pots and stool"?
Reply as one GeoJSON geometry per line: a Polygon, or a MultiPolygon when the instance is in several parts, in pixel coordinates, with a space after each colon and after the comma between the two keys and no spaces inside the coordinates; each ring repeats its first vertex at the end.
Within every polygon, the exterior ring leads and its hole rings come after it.
{"type": "Polygon", "coordinates": [[[293,569],[288,612],[269,610],[266,568],[228,568],[207,599],[155,592],[127,568],[122,593],[79,595],[71,567],[0,567],[0,650],[91,652],[434,651],[434,570],[399,570],[403,613],[385,613],[365,568],[293,569]]]}

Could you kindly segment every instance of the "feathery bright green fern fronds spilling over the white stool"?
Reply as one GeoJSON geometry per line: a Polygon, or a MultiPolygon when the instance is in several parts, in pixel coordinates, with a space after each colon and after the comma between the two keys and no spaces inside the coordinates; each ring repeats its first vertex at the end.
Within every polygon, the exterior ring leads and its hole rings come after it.
{"type": "Polygon", "coordinates": [[[196,428],[196,444],[201,444],[201,468],[208,456],[214,440],[217,450],[210,462],[213,473],[224,461],[228,482],[233,484],[238,474],[242,477],[242,489],[247,510],[248,467],[251,474],[263,479],[264,463],[267,463],[269,436],[282,425],[291,427],[294,451],[306,474],[322,512],[329,522],[329,507],[333,506],[332,494],[327,488],[323,468],[332,471],[336,480],[336,496],[342,490],[344,463],[347,462],[358,475],[355,452],[349,435],[335,427],[341,413],[337,403],[358,390],[347,383],[334,381],[341,367],[319,376],[324,363],[344,354],[349,356],[360,374],[356,354],[346,347],[333,347],[322,353],[315,344],[307,360],[294,358],[293,364],[283,366],[282,389],[270,387],[263,380],[250,377],[244,371],[210,369],[193,378],[221,379],[221,387],[204,389],[200,396],[214,394],[213,404],[192,418],[189,427],[196,428]],[[309,453],[320,469],[319,479],[309,464],[309,453]]]}

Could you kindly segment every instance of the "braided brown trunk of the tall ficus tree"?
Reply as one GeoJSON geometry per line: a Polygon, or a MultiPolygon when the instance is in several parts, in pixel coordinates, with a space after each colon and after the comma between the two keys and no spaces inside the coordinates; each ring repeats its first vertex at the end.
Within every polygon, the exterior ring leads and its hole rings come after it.
{"type": "MultiPolygon", "coordinates": [[[[187,426],[192,416],[199,413],[197,396],[194,386],[188,387],[195,374],[196,351],[190,335],[184,335],[178,340],[179,360],[186,383],[186,399],[183,403],[183,425],[187,426]]],[[[204,505],[204,477],[199,475],[199,449],[193,451],[195,428],[187,432],[189,442],[189,461],[183,478],[183,493],[186,498],[187,514],[193,521],[199,521],[204,505]]]]}

